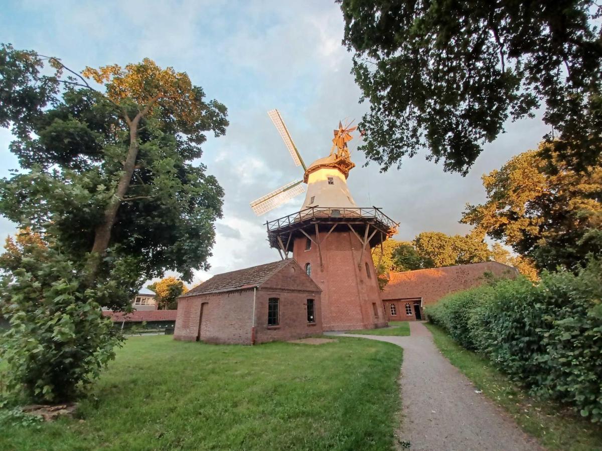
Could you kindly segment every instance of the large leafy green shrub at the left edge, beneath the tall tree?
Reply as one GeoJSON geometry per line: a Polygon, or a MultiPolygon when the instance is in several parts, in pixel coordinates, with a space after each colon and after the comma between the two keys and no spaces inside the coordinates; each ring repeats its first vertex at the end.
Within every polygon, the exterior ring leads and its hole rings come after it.
{"type": "Polygon", "coordinates": [[[72,262],[48,249],[23,258],[0,283],[0,313],[11,328],[0,336],[0,377],[34,400],[72,399],[114,357],[119,334],[96,299],[105,286],[87,288],[72,262]]]}

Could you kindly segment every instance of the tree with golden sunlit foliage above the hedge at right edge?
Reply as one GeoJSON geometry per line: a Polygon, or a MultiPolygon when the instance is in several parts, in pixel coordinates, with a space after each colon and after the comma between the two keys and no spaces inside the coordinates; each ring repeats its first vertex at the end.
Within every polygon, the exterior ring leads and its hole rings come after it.
{"type": "Polygon", "coordinates": [[[602,252],[602,164],[579,173],[560,159],[550,162],[550,147],[542,143],[483,176],[487,201],[467,204],[461,222],[538,269],[577,269],[587,254],[602,252]]]}

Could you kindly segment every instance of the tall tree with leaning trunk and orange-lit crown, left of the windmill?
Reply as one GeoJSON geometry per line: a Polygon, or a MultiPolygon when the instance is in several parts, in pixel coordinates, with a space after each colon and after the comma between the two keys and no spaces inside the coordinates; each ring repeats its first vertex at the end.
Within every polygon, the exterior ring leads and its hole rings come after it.
{"type": "MultiPolygon", "coordinates": [[[[205,133],[217,137],[227,125],[225,106],[207,101],[187,74],[152,60],[78,73],[58,58],[0,46],[0,126],[11,126],[10,150],[20,164],[19,173],[0,182],[0,213],[50,237],[45,260],[28,260],[31,271],[5,277],[0,299],[7,318],[23,313],[39,326],[36,299],[58,311],[79,311],[82,304],[127,310],[144,280],[168,269],[190,280],[193,269],[208,269],[223,190],[191,161],[202,155],[205,133]],[[64,271],[40,282],[38,272],[53,264],[64,271]],[[15,280],[22,283],[13,287],[15,280]],[[25,280],[42,283],[39,291],[25,280]],[[72,307],[63,299],[59,308],[48,293],[65,283],[72,307]],[[19,286],[29,302],[13,302],[19,286]]],[[[76,316],[65,318],[75,327],[76,316]]],[[[82,366],[97,363],[82,360],[82,366]]]]}

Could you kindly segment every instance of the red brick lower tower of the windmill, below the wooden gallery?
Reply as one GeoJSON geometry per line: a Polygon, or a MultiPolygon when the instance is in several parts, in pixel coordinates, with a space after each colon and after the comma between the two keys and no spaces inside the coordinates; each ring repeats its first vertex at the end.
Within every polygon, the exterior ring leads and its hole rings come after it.
{"type": "MultiPolygon", "coordinates": [[[[338,225],[338,229],[320,244],[323,267],[320,266],[317,245],[312,244],[310,250],[305,250],[305,236],[294,241],[294,259],[302,268],[310,263],[311,278],[322,289],[324,330],[384,327],[386,317],[380,302],[370,249],[365,248],[361,268],[358,268],[361,242],[349,229],[344,232],[343,227],[346,225],[338,225]],[[366,272],[366,263],[370,277],[366,272]]],[[[315,241],[315,236],[309,235],[315,241]]],[[[325,235],[326,232],[320,233],[322,238],[325,235]]]]}

